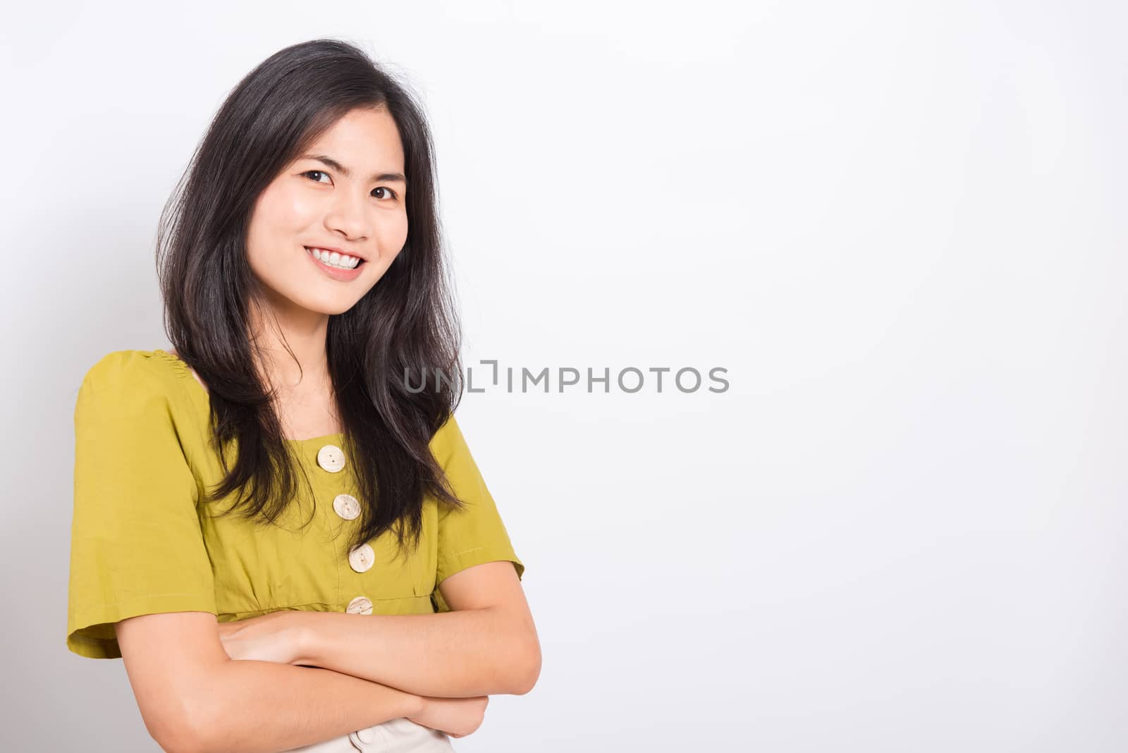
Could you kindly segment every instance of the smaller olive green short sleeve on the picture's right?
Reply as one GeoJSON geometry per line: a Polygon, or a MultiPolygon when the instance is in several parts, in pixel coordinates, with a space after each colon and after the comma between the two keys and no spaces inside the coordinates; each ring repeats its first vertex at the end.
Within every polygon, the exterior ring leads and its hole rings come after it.
{"type": "MultiPolygon", "coordinates": [[[[461,510],[441,504],[439,507],[439,557],[435,583],[475,565],[508,560],[513,562],[517,577],[525,575],[525,564],[513,551],[509,532],[497,512],[486,482],[478,471],[466,438],[453,414],[432,441],[435,459],[442,466],[450,486],[466,506],[461,510]]],[[[441,600],[438,588],[435,594],[441,600]]],[[[446,611],[440,609],[440,611],[446,611]]]]}

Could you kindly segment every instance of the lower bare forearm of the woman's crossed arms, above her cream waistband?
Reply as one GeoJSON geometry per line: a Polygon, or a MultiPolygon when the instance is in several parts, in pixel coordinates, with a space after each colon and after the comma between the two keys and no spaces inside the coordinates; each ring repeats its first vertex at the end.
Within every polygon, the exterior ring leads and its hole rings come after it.
{"type": "Polygon", "coordinates": [[[184,750],[273,753],[416,714],[423,699],[319,667],[228,661],[209,677],[184,750]]]}

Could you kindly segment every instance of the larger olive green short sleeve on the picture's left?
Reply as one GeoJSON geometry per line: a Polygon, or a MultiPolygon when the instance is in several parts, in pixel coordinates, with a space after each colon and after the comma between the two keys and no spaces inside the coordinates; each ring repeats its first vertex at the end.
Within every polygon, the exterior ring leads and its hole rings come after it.
{"type": "Polygon", "coordinates": [[[115,622],[139,614],[215,613],[199,489],[176,431],[176,382],[141,351],[86,374],[74,405],[67,648],[118,658],[115,622]]]}

